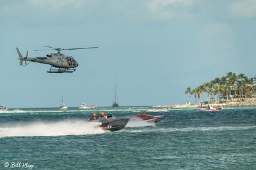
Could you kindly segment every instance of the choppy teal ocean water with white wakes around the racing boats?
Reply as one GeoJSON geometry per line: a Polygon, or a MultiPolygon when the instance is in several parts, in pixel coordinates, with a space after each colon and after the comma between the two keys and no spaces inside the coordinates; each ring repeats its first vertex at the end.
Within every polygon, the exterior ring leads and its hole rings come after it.
{"type": "Polygon", "coordinates": [[[0,151],[0,169],[256,169],[256,108],[10,110],[0,113],[0,151]],[[85,121],[101,111],[131,120],[116,132],[85,121]]]}

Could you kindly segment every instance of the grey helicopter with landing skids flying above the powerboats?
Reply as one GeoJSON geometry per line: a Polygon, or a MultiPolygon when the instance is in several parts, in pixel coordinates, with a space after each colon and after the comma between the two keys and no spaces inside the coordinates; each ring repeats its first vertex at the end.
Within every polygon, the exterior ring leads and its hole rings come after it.
{"type": "MultiPolygon", "coordinates": [[[[28,57],[28,51],[26,53],[26,57],[23,57],[20,53],[19,48],[17,47],[17,53],[19,55],[20,66],[27,66],[29,62],[39,62],[43,64],[50,64],[51,68],[47,73],[73,73],[76,71],[75,67],[78,66],[77,61],[72,57],[60,53],[63,50],[79,50],[79,49],[88,49],[88,48],[98,48],[95,47],[83,47],[83,48],[54,48],[51,46],[45,46],[47,48],[52,48],[51,50],[56,50],[58,53],[47,54],[46,57],[28,57]],[[25,64],[23,64],[25,61],[25,64]]],[[[45,49],[49,50],[49,49],[45,49]]],[[[42,51],[42,50],[35,50],[42,51]]]]}

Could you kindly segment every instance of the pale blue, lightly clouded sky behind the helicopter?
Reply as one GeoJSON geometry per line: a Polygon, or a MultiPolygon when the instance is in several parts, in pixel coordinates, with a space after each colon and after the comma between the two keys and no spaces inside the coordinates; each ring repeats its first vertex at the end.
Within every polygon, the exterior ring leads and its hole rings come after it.
{"type": "MultiPolygon", "coordinates": [[[[255,75],[256,1],[0,1],[0,103],[9,108],[186,103],[186,87],[227,72],[255,75]],[[19,66],[44,45],[79,62],[71,74],[19,66]]],[[[49,51],[50,53],[51,51],[49,51]]]]}

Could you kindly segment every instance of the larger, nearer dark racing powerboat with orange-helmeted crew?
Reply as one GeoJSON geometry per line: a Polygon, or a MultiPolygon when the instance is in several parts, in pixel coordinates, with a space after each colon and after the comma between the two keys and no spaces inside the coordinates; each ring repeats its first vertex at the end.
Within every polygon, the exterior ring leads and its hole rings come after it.
{"type": "Polygon", "coordinates": [[[125,127],[129,122],[130,117],[114,117],[108,115],[107,117],[93,117],[89,121],[100,122],[99,127],[107,131],[119,131],[125,127]]]}

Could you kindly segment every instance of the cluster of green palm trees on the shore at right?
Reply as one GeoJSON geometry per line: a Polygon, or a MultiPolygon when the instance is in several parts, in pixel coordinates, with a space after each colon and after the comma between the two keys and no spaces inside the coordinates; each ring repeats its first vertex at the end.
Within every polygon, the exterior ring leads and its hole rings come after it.
{"type": "Polygon", "coordinates": [[[228,72],[226,76],[215,78],[212,81],[203,83],[195,89],[187,87],[185,94],[195,96],[195,103],[204,101],[204,94],[207,94],[207,103],[225,103],[227,101],[244,101],[256,97],[256,75],[253,78],[228,72]],[[197,100],[198,99],[198,100],[197,100]]]}

